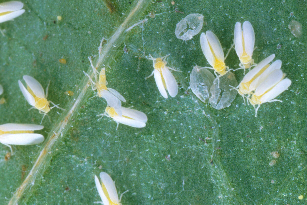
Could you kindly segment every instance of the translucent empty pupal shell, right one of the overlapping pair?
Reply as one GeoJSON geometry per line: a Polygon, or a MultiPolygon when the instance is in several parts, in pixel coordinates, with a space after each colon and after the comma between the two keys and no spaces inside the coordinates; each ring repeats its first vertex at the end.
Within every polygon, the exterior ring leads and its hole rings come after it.
{"type": "Polygon", "coordinates": [[[211,97],[209,98],[209,103],[212,107],[218,110],[229,107],[237,95],[237,92],[232,87],[237,85],[238,81],[231,72],[227,72],[219,78],[217,77],[210,88],[211,97]]]}

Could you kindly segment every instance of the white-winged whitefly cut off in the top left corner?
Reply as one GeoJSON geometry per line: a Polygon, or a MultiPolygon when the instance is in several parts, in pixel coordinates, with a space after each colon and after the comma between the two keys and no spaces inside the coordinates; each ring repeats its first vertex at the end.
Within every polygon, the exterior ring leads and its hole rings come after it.
{"type": "Polygon", "coordinates": [[[12,20],[25,12],[23,3],[17,1],[3,2],[0,4],[0,23],[12,20]]]}

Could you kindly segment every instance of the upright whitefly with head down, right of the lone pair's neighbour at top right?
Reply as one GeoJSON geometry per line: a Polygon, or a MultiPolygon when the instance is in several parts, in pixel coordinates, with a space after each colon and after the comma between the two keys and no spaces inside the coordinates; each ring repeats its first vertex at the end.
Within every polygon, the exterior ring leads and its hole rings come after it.
{"type": "Polygon", "coordinates": [[[243,22],[243,30],[240,22],[235,23],[234,41],[241,64],[244,68],[250,68],[255,45],[255,33],[250,22],[243,22]]]}

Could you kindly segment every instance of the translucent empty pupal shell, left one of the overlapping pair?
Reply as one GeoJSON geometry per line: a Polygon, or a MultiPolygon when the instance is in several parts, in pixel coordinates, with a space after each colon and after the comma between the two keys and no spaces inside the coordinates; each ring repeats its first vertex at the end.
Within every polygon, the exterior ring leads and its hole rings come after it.
{"type": "Polygon", "coordinates": [[[201,101],[205,102],[210,97],[210,87],[214,75],[204,67],[194,66],[190,74],[190,88],[201,101]]]}

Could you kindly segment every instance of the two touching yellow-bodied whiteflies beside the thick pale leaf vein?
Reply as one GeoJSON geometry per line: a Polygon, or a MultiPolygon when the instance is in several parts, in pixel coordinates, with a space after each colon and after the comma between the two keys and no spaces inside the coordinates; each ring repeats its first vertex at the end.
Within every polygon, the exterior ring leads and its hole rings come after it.
{"type": "Polygon", "coordinates": [[[84,71],[83,73],[90,79],[92,90],[97,90],[98,97],[103,97],[107,101],[105,112],[97,116],[104,116],[107,114],[108,117],[111,117],[115,122],[117,122],[117,126],[121,123],[136,128],[145,127],[145,123],[147,122],[147,116],[145,113],[122,107],[122,102],[126,102],[125,98],[115,89],[107,88],[108,82],[106,80],[106,69],[102,68],[101,71],[98,72],[90,57],[89,60],[94,72],[95,81],[93,81],[84,71]]]}

